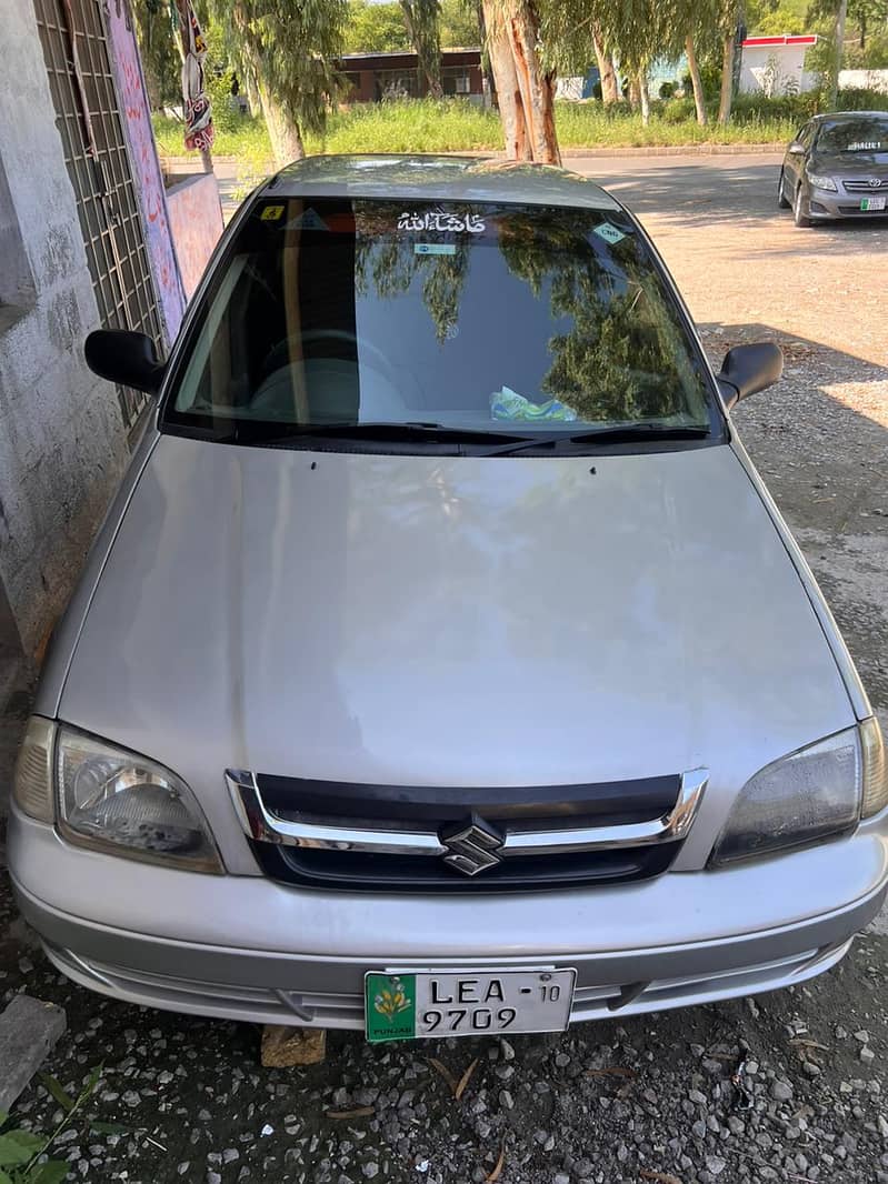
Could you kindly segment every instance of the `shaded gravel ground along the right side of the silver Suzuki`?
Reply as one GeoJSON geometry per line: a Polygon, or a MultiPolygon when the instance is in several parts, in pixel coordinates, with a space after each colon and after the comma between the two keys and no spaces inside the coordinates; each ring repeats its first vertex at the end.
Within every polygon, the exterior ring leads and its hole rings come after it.
{"type": "Polygon", "coordinates": [[[777,341],[781,381],[741,404],[738,431],[830,603],[876,708],[888,709],[888,368],[766,324],[703,324],[718,367],[777,341]]]}

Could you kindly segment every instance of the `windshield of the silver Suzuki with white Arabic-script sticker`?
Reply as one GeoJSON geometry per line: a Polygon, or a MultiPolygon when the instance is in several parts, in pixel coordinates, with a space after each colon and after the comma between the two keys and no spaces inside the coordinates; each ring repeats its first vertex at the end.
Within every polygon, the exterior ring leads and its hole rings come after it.
{"type": "Polygon", "coordinates": [[[199,314],[162,426],[708,429],[703,362],[618,211],[265,200],[199,314]]]}

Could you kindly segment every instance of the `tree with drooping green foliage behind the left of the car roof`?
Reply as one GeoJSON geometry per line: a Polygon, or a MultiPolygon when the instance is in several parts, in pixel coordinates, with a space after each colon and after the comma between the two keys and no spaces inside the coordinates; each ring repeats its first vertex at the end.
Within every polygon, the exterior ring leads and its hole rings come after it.
{"type": "Polygon", "coordinates": [[[277,165],[305,155],[339,90],[347,0],[208,0],[239,73],[256,82],[277,165]]]}

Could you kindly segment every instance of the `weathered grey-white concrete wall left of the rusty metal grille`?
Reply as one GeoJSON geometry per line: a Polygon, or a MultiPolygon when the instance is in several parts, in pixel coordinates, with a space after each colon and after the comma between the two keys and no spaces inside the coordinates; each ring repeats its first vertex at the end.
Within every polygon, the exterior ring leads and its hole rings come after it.
{"type": "Polygon", "coordinates": [[[114,388],[83,361],[98,323],[32,4],[0,0],[5,220],[27,283],[0,309],[0,580],[26,651],[64,606],[126,464],[114,388]]]}

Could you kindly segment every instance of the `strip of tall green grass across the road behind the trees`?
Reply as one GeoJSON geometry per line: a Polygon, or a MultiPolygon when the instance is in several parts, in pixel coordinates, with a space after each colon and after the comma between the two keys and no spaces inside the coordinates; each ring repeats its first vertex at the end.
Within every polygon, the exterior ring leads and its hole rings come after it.
{"type": "MultiPolygon", "coordinates": [[[[845,96],[843,95],[843,98],[845,96]]],[[[866,92],[848,92],[847,107],[884,105],[866,92]]],[[[817,97],[803,95],[784,99],[741,97],[727,127],[714,121],[701,127],[689,99],[655,102],[649,124],[626,104],[605,108],[600,103],[558,103],[555,120],[562,150],[571,148],[630,148],[684,144],[779,143],[792,139],[799,123],[816,110],[817,97]]],[[[161,154],[181,155],[182,126],[154,117],[161,154]]],[[[347,152],[471,152],[501,149],[502,129],[494,111],[484,111],[464,99],[411,99],[397,103],[356,104],[334,111],[322,135],[305,137],[310,153],[347,152]]],[[[233,130],[217,130],[213,152],[237,156],[247,170],[260,172],[271,157],[265,126],[244,118],[233,130]]]]}

